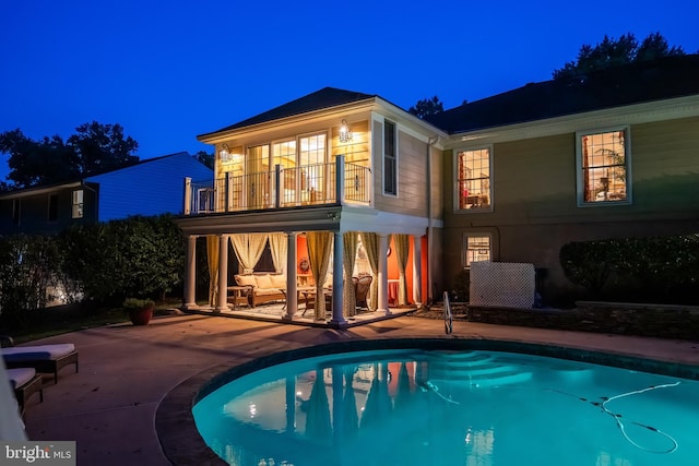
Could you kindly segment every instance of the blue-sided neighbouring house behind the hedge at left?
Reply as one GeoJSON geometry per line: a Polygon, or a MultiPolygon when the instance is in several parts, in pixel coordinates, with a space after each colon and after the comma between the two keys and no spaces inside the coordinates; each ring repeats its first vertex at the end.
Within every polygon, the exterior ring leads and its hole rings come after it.
{"type": "Polygon", "coordinates": [[[212,171],[186,152],[63,183],[0,193],[0,235],[46,234],[130,215],[181,214],[182,179],[212,171]]]}

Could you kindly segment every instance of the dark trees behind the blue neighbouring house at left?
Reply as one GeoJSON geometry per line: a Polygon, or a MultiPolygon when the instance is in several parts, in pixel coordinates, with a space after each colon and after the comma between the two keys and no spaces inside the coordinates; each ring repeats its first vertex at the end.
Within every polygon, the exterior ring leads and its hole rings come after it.
{"type": "Polygon", "coordinates": [[[125,138],[121,126],[93,121],[75,130],[66,142],[59,135],[34,141],[19,128],[0,133],[0,152],[10,154],[8,179],[13,181],[1,188],[62,182],[139,162],[131,154],[139,144],[125,138]]]}

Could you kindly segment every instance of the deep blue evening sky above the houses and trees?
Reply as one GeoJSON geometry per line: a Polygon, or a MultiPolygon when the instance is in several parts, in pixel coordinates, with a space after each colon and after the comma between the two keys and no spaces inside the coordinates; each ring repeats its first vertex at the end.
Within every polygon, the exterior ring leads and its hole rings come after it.
{"type": "MultiPolygon", "coordinates": [[[[5,0],[0,132],[120,123],[151,158],[324,86],[446,108],[546,81],[582,44],[660,32],[699,50],[699,2],[5,0]]],[[[0,179],[7,175],[0,155],[0,179]]]]}

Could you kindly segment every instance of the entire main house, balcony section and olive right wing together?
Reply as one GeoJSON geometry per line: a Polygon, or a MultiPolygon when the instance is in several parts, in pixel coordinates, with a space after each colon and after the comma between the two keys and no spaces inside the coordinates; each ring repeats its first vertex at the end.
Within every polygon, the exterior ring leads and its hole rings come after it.
{"type": "MultiPolygon", "coordinates": [[[[217,310],[226,307],[229,240],[248,273],[260,258],[251,251],[268,244],[273,268],[287,275],[291,319],[303,260],[319,255],[309,239],[331,232],[331,323],[343,324],[343,265],[356,274],[367,258],[386,312],[439,299],[483,260],[534,264],[553,300],[571,288],[562,244],[699,226],[698,56],[529,84],[429,121],[328,87],[199,140],[215,146],[216,162],[213,180],[188,180],[178,220],[192,308],[197,237],[221,251],[212,255],[217,310]],[[359,252],[345,255],[356,237],[359,252]]],[[[318,307],[316,318],[324,319],[318,307]]]]}

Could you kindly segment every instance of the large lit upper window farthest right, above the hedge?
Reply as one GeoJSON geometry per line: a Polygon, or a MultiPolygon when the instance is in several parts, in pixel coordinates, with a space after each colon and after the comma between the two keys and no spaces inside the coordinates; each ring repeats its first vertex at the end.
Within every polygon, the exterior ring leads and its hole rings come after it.
{"type": "Polygon", "coordinates": [[[578,204],[628,201],[628,128],[578,133],[578,204]]]}

